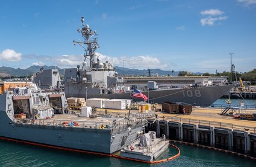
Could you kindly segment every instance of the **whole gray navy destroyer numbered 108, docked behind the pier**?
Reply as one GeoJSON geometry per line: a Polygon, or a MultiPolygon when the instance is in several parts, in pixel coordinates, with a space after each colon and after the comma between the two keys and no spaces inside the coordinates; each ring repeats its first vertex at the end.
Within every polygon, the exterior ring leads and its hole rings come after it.
{"type": "MultiPolygon", "coordinates": [[[[100,47],[97,38],[94,37],[97,33],[92,31],[88,24],[84,24],[84,18],[81,21],[83,27],[78,28],[77,31],[81,33],[84,40],[74,40],[73,42],[83,47],[86,53],[84,53],[84,62],[81,65],[77,65],[77,68],[65,70],[66,96],[142,101],[143,99],[132,96],[132,88],[125,85],[124,78],[118,77],[112,63],[100,62],[99,56],[95,53],[100,47]]],[[[148,102],[150,103],[157,102],[161,104],[162,101],[172,101],[195,105],[211,105],[233,87],[233,85],[218,85],[157,89],[156,84],[156,82],[153,82],[151,89],[141,91],[148,96],[148,102]]],[[[136,87],[136,85],[133,87],[136,87]]],[[[148,85],[148,88],[150,88],[150,85],[148,85]]]]}

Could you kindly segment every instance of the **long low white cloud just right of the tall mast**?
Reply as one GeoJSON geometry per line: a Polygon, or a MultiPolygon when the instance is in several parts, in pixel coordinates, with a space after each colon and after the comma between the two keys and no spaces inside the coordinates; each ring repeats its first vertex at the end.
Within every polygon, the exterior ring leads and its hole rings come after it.
{"type": "Polygon", "coordinates": [[[151,56],[134,56],[134,57],[111,57],[106,56],[100,53],[96,53],[96,56],[99,56],[99,59],[102,62],[109,61],[113,63],[114,66],[123,66],[125,60],[126,68],[135,68],[135,69],[147,69],[147,68],[159,68],[166,69],[169,67],[166,63],[162,62],[160,59],[151,56]]]}

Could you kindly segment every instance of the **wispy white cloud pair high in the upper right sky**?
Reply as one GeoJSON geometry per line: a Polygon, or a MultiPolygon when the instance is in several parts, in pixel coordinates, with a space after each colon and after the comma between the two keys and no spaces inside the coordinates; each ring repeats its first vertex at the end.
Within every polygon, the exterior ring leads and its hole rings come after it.
{"type": "Polygon", "coordinates": [[[223,16],[224,12],[220,11],[219,9],[209,9],[209,10],[201,11],[200,14],[204,16],[204,18],[201,18],[200,20],[200,23],[203,26],[214,25],[216,21],[227,20],[227,16],[225,15],[223,16]],[[216,17],[217,15],[220,15],[220,16],[216,17]]]}

